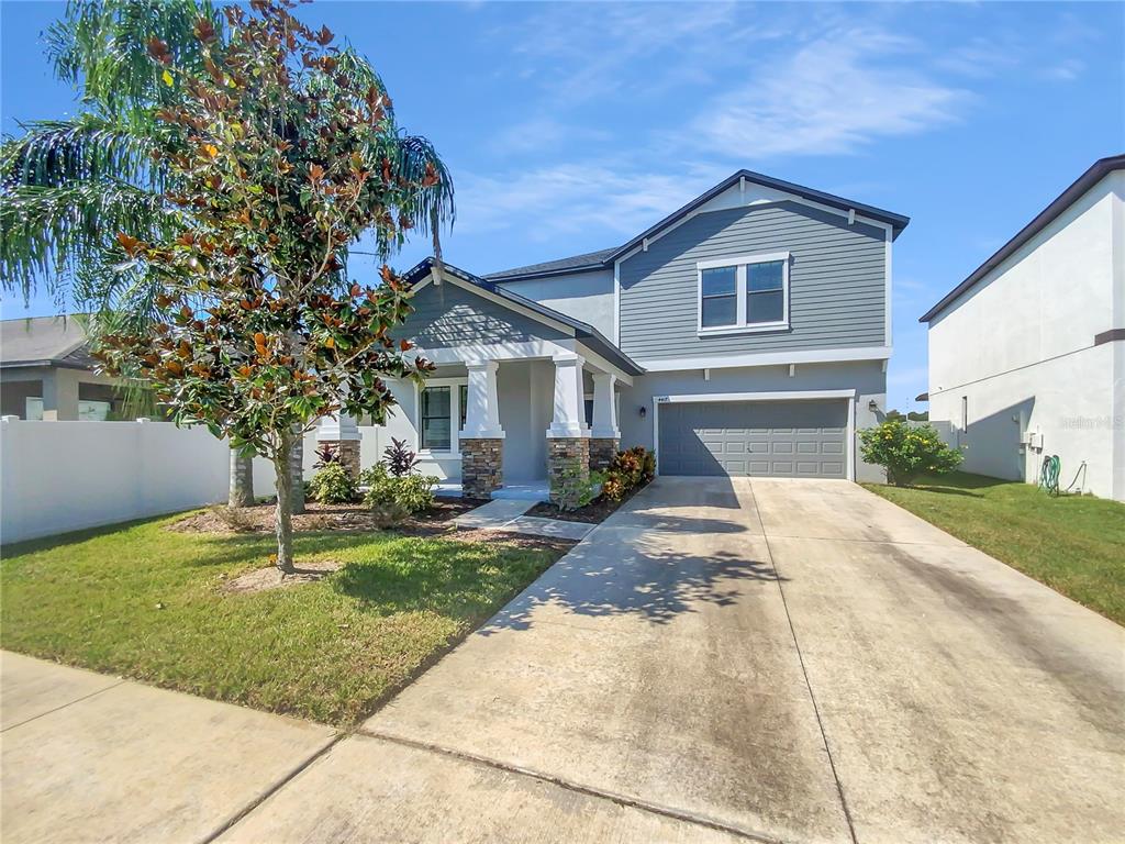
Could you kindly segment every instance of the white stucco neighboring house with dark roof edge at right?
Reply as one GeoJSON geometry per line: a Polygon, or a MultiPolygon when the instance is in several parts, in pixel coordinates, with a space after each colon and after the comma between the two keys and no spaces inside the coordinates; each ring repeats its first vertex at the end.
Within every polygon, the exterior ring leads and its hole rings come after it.
{"type": "Polygon", "coordinates": [[[1125,155],[1101,159],[922,315],[929,416],[968,472],[1125,501],[1125,155]],[[1084,469],[1083,469],[1084,464],[1084,469]],[[1082,470],[1082,473],[1080,473],[1082,470]]]}

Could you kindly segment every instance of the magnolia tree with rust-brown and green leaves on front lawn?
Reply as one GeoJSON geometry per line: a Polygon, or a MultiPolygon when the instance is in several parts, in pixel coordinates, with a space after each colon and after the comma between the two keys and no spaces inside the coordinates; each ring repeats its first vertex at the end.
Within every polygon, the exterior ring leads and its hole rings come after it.
{"type": "Polygon", "coordinates": [[[385,377],[420,380],[432,365],[389,331],[410,313],[387,266],[375,285],[348,279],[348,249],[374,233],[386,254],[414,226],[432,164],[402,155],[390,100],[371,68],[332,46],[285,0],[201,18],[200,70],[160,39],[152,61],[179,96],[156,114],[154,161],[174,174],[181,224],[143,241],[120,234],[122,271],[160,290],[148,331],[108,334],[108,371],[138,371],[182,424],[205,424],[272,460],[277,565],[294,571],[290,456],[340,411],[385,417],[385,377]]]}

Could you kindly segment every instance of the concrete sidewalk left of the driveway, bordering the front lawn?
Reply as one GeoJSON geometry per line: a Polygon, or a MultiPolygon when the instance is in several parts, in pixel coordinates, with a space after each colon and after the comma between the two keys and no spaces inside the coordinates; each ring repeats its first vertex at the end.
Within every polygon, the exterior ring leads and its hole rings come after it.
{"type": "Polygon", "coordinates": [[[327,727],[0,654],[0,839],[206,842],[327,727]]]}

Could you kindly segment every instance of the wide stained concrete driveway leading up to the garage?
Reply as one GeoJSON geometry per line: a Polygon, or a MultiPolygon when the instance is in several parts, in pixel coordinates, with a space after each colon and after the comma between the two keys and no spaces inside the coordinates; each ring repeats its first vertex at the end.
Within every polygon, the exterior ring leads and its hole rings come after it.
{"type": "Polygon", "coordinates": [[[664,478],[220,841],[1120,841],[1123,704],[1125,630],[858,486],[664,478]]]}

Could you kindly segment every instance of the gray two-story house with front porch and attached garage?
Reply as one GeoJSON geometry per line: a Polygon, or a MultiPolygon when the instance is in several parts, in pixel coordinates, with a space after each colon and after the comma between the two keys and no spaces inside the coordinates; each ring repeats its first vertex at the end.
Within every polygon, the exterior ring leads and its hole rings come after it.
{"type": "Polygon", "coordinates": [[[474,496],[634,445],[662,475],[880,479],[856,430],[885,410],[908,222],[742,170],[612,249],[485,277],[428,259],[398,334],[438,370],[378,436],[474,496]]]}

